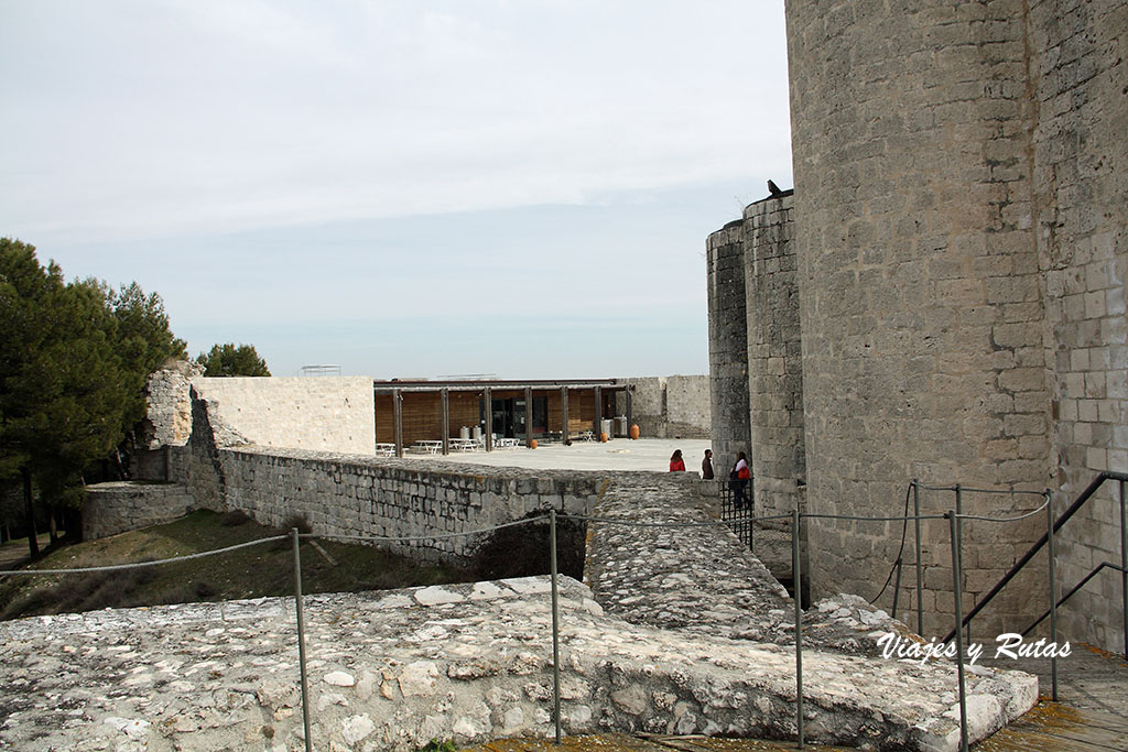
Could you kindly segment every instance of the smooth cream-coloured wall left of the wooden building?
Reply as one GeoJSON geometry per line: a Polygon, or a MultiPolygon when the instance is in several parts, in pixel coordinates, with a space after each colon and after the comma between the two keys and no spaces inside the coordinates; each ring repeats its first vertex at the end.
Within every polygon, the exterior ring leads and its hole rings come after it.
{"type": "Polygon", "coordinates": [[[376,407],[368,377],[199,378],[224,423],[259,446],[376,453],[376,407]]]}

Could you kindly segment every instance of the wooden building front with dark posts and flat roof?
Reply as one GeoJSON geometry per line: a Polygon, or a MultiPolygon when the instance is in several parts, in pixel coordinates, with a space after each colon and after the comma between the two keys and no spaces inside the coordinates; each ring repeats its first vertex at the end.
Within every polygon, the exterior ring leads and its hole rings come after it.
{"type": "Polygon", "coordinates": [[[465,427],[481,435],[486,451],[501,439],[575,439],[601,433],[614,417],[617,392],[631,387],[617,379],[579,381],[374,381],[376,442],[395,445],[397,457],[420,441],[441,442],[442,453],[465,427]],[[566,426],[566,428],[565,428],[566,426]]]}

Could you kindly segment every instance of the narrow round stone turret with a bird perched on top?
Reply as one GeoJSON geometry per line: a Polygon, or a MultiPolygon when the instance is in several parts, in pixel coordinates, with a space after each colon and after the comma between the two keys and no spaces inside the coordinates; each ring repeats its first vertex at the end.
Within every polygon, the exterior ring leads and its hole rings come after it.
{"type": "Polygon", "coordinates": [[[803,359],[795,285],[794,196],[744,209],[748,400],[757,514],[803,510],[803,359]]]}

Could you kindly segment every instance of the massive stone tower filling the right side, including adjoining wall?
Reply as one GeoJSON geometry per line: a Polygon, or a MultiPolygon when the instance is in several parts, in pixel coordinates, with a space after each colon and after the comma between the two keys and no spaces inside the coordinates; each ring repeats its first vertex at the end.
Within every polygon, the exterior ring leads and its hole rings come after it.
{"type": "MultiPolygon", "coordinates": [[[[788,0],[787,28],[808,511],[900,514],[911,478],[1050,487],[1061,510],[1096,472],[1128,471],[1128,7],[788,0]]],[[[1064,585],[1119,563],[1111,496],[1063,531],[1064,585]]],[[[961,501],[999,516],[1038,503],[961,501]]],[[[966,602],[1043,528],[968,522],[966,602]]],[[[872,596],[901,525],[821,519],[808,536],[816,595],[872,596]]],[[[940,631],[946,523],[925,540],[940,631]]],[[[1024,628],[1040,574],[982,630],[1024,628]]],[[[1122,647],[1108,580],[1065,628],[1122,647]]]]}

